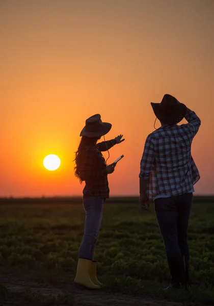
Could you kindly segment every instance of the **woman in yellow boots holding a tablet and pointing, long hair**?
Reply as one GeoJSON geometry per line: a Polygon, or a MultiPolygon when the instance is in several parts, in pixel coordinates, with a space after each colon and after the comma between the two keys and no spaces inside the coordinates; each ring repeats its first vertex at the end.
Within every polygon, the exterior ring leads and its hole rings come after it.
{"type": "Polygon", "coordinates": [[[90,289],[99,289],[102,285],[96,277],[94,248],[98,240],[103,203],[109,198],[108,174],[114,172],[116,166],[115,163],[106,166],[101,151],[109,150],[115,144],[124,141],[120,135],[115,139],[97,143],[101,136],[111,130],[111,127],[111,123],[101,121],[99,114],[88,118],[80,134],[82,139],[75,156],[75,176],[81,183],[83,181],[86,183],[83,190],[86,219],[74,283],[90,289]]]}

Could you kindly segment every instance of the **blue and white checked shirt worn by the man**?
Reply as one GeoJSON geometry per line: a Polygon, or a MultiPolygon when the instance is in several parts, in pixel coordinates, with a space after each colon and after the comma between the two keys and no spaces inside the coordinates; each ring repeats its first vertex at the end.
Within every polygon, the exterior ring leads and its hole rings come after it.
{"type": "Polygon", "coordinates": [[[191,144],[201,120],[191,111],[181,125],[164,125],[146,139],[139,177],[149,180],[147,196],[189,192],[200,179],[191,156],[191,144]]]}

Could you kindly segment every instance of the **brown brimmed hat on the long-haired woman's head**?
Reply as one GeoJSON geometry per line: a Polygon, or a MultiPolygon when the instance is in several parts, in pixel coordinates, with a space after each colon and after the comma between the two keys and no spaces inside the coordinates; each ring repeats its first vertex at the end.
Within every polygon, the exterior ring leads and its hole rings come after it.
{"type": "Polygon", "coordinates": [[[111,128],[111,123],[102,122],[100,114],[96,114],[86,120],[86,125],[79,136],[101,137],[107,134],[111,128]]]}

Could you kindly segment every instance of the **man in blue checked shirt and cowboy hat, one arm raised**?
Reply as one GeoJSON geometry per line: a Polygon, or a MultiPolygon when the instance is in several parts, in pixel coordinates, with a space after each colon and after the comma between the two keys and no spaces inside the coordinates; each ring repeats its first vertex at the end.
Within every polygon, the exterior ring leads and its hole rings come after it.
{"type": "Polygon", "coordinates": [[[171,272],[171,284],[165,290],[179,288],[181,283],[188,289],[188,223],[193,186],[200,179],[191,144],[201,121],[170,94],[165,94],[161,103],[151,105],[162,126],[146,139],[139,175],[140,203],[148,209],[148,200],[154,199],[171,272]],[[177,125],[183,118],[188,123],[177,125]]]}

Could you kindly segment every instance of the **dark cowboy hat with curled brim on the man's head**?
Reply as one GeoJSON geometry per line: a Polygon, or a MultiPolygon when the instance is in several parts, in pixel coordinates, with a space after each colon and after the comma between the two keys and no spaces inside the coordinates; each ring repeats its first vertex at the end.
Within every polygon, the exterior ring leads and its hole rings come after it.
{"type": "Polygon", "coordinates": [[[165,94],[161,103],[151,103],[154,114],[161,122],[174,125],[186,114],[186,106],[170,94],[165,94]]]}

